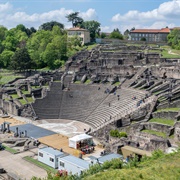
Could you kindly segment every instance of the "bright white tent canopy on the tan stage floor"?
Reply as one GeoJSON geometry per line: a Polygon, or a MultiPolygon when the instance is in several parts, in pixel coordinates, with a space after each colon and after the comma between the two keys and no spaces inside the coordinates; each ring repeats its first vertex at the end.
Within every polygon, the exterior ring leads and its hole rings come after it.
{"type": "Polygon", "coordinates": [[[77,143],[84,140],[92,140],[92,136],[88,134],[79,134],[72,138],[69,138],[69,147],[77,149],[77,143]]]}

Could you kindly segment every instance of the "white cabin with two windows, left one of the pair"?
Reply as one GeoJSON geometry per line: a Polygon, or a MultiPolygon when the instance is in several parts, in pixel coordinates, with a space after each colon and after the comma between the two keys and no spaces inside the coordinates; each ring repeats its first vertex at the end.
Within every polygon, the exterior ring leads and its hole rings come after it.
{"type": "Polygon", "coordinates": [[[58,168],[58,158],[62,156],[65,156],[63,152],[51,147],[43,147],[38,150],[38,161],[55,169],[58,168]]]}

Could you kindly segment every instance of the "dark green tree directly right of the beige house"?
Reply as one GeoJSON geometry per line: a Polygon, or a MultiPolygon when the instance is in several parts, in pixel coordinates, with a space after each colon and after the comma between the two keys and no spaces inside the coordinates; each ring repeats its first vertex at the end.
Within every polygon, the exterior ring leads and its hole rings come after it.
{"type": "Polygon", "coordinates": [[[100,33],[100,23],[97,21],[84,21],[81,25],[82,28],[89,30],[91,40],[94,41],[96,35],[100,33]]]}

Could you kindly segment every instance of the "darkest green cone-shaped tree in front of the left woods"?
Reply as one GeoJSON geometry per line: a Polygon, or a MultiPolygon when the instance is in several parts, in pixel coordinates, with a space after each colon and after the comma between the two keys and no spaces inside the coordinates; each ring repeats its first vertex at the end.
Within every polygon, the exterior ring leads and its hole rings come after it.
{"type": "Polygon", "coordinates": [[[25,71],[30,69],[32,66],[32,60],[29,56],[28,50],[26,48],[16,50],[12,56],[10,65],[13,70],[25,71]]]}

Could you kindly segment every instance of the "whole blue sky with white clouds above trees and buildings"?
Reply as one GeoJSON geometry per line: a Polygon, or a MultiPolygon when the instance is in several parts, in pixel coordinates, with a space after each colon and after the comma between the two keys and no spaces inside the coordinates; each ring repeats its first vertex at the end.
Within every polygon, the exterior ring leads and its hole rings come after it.
{"type": "Polygon", "coordinates": [[[0,25],[38,29],[57,21],[70,28],[66,15],[72,12],[84,21],[98,21],[102,32],[180,27],[180,0],[0,0],[0,25]]]}

